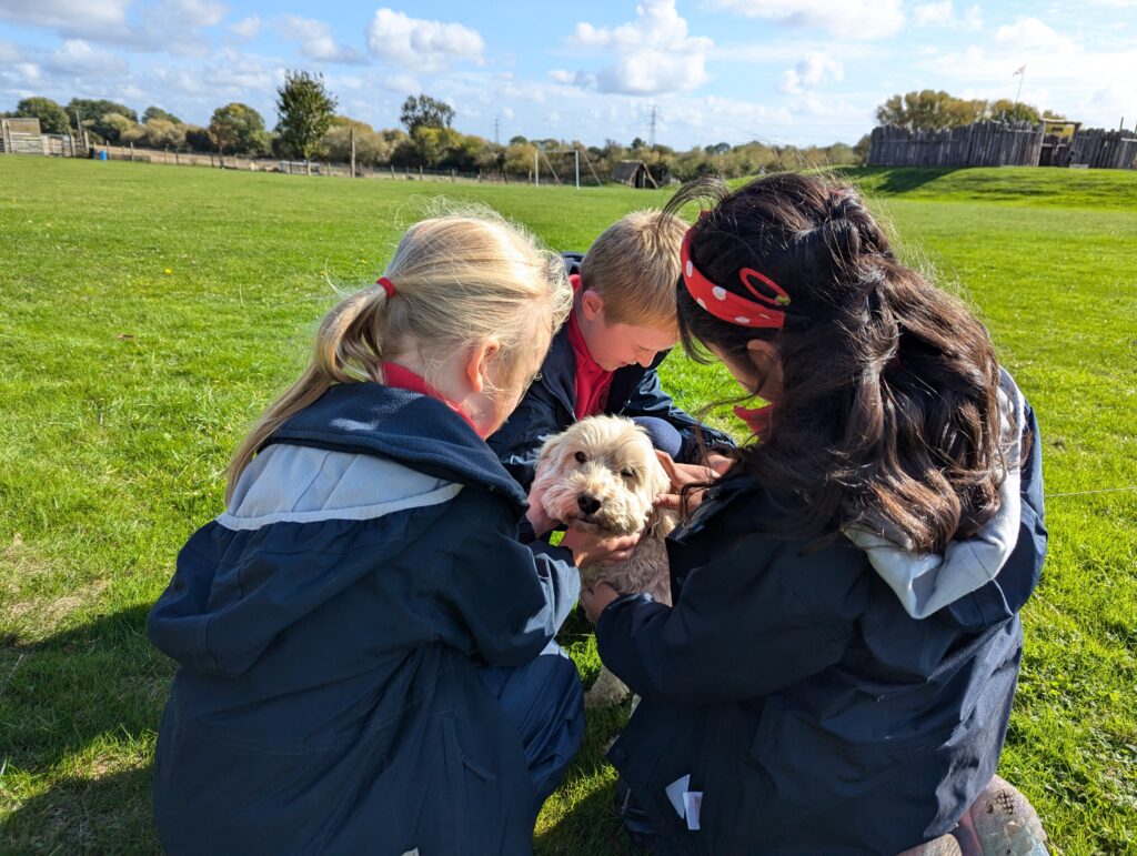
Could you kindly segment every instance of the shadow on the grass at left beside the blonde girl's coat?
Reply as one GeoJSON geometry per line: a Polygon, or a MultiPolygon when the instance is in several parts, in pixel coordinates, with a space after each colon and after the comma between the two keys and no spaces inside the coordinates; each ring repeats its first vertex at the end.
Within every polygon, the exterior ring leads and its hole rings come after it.
{"type": "Polygon", "coordinates": [[[150,753],[173,666],[147,609],[0,638],[0,853],[157,851],[150,753]]]}

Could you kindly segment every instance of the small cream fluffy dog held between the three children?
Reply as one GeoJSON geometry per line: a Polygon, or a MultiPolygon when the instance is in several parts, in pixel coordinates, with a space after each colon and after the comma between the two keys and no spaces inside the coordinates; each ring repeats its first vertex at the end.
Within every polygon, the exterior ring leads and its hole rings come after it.
{"type": "MultiPolygon", "coordinates": [[[[626,560],[582,567],[587,584],[606,582],[621,593],[642,591],[671,605],[664,539],[675,527],[675,515],[653,505],[671,481],[646,431],[619,416],[581,419],[541,447],[533,488],[542,491],[545,513],[562,523],[609,535],[641,533],[626,560]]],[[[612,704],[626,692],[605,668],[586,703],[612,704]]]]}

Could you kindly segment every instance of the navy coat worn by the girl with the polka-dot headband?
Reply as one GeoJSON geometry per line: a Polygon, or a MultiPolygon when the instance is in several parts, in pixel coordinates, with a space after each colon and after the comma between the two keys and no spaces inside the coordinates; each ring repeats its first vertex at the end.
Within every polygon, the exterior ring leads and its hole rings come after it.
{"type": "Polygon", "coordinates": [[[639,595],[601,613],[600,657],[642,697],[609,758],[677,851],[895,854],[954,828],[995,772],[1019,609],[1046,552],[1041,443],[1024,416],[1013,548],[928,617],[844,537],[802,552],[754,532],[783,512],[740,477],[672,534],[673,608],[639,595]],[[698,832],[665,795],[688,774],[698,832]]]}

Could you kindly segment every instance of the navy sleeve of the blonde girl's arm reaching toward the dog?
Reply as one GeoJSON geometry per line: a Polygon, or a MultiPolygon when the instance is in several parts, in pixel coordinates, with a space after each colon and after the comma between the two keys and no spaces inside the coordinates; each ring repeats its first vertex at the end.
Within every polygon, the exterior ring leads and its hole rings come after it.
{"type": "Polygon", "coordinates": [[[438,595],[488,664],[517,666],[556,635],[580,597],[580,573],[568,550],[523,545],[515,524],[493,517],[483,509],[440,563],[438,595]]]}

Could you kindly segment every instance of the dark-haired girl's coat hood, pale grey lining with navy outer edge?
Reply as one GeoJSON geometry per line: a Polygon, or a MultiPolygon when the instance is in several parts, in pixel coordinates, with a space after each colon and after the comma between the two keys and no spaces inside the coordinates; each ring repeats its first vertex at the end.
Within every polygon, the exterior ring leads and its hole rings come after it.
{"type": "MultiPolygon", "coordinates": [[[[999,373],[1005,472],[996,515],[974,535],[952,541],[943,554],[914,552],[905,547],[902,537],[888,538],[887,529],[886,534],[856,526],[845,530],[845,535],[865,551],[873,570],[913,618],[926,618],[957,605],[996,580],[1020,547],[1020,554],[1030,552],[1029,558],[1023,557],[1032,568],[1030,583],[1024,592],[1004,592],[1007,600],[1015,604],[1026,600],[1037,580],[1045,552],[1045,530],[1038,444],[1030,439],[1034,416],[1011,376],[1003,369],[999,373]],[[1024,454],[1027,449],[1029,454],[1024,454]],[[1021,543],[1032,535],[1040,540],[1021,543]]],[[[1037,437],[1037,431],[1034,435],[1037,437]]],[[[1021,588],[1021,583],[1015,588],[1021,588]]]]}

